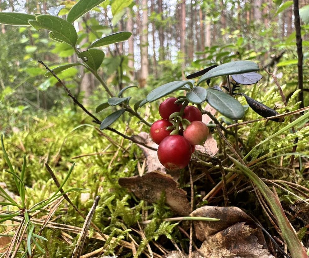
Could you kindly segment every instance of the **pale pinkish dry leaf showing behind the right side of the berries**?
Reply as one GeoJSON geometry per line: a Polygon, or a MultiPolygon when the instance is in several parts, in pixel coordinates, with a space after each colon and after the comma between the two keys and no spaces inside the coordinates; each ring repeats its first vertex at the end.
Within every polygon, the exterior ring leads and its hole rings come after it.
{"type": "MultiPolygon", "coordinates": [[[[209,104],[206,105],[205,110],[209,111],[212,115],[216,113],[216,110],[211,107],[209,104]]],[[[209,124],[211,122],[211,118],[204,114],[202,115],[202,122],[205,124],[209,124]]],[[[195,149],[200,151],[201,153],[207,153],[210,156],[216,155],[218,152],[218,147],[217,147],[217,141],[212,137],[211,133],[209,133],[205,143],[203,146],[201,145],[196,145],[195,149]]]]}

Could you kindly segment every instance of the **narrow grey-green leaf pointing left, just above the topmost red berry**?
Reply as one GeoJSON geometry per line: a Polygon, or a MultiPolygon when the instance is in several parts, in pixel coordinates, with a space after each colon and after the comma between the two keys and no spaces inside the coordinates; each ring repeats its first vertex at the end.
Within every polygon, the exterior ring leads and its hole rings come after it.
{"type": "Polygon", "coordinates": [[[158,88],[155,88],[154,90],[150,91],[148,93],[146,100],[147,102],[153,102],[159,98],[162,98],[175,90],[178,90],[179,88],[183,87],[186,84],[192,84],[194,83],[194,80],[188,80],[188,81],[174,81],[174,82],[169,82],[167,84],[163,84],[159,86],[158,88]]]}

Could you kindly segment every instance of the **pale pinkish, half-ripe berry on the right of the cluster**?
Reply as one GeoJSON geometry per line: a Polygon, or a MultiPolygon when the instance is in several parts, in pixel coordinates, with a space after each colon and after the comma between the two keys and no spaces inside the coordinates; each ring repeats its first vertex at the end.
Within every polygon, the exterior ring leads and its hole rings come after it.
{"type": "Polygon", "coordinates": [[[185,137],[191,145],[200,144],[206,141],[209,134],[208,127],[201,121],[193,121],[183,131],[183,137],[185,137]]]}

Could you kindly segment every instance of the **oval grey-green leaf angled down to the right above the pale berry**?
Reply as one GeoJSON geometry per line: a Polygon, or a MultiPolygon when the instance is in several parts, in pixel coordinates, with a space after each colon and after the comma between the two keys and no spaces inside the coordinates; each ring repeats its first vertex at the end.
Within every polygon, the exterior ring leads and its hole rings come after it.
{"type": "Polygon", "coordinates": [[[214,88],[208,88],[206,101],[222,115],[231,119],[241,119],[244,116],[242,104],[232,96],[214,88]]]}

